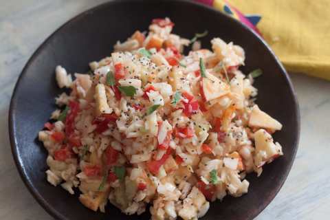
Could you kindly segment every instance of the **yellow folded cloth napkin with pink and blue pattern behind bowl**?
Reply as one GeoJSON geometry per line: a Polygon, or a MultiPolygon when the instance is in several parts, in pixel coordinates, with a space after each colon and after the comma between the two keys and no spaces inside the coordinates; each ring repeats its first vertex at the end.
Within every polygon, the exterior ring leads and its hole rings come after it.
{"type": "Polygon", "coordinates": [[[330,80],[329,0],[197,0],[261,34],[289,72],[330,80]]]}

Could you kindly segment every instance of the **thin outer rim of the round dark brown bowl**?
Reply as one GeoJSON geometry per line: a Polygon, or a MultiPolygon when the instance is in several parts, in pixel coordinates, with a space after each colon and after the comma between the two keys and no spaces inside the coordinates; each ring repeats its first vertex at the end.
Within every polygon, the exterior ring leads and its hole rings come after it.
{"type": "MultiPolygon", "coordinates": [[[[25,186],[28,188],[28,190],[30,191],[30,193],[32,194],[34,199],[36,199],[36,201],[38,201],[38,203],[43,207],[43,209],[46,210],[47,213],[50,214],[55,219],[69,220],[67,217],[63,216],[63,214],[61,214],[61,212],[58,212],[58,210],[56,210],[56,208],[54,208],[52,205],[50,205],[50,203],[48,203],[43,198],[43,195],[41,195],[40,192],[32,186],[32,183],[31,183],[30,179],[28,178],[27,173],[25,173],[25,168],[24,168],[25,165],[23,164],[23,162],[21,161],[21,157],[19,156],[19,151],[18,151],[18,146],[17,146],[17,137],[15,135],[16,132],[14,131],[14,122],[15,122],[14,114],[15,114],[15,107],[17,104],[17,102],[15,102],[15,100],[16,100],[16,96],[17,96],[17,89],[21,83],[22,76],[26,73],[28,67],[30,67],[31,63],[40,54],[40,52],[43,50],[43,48],[48,43],[50,43],[50,39],[52,39],[52,37],[54,35],[56,35],[63,28],[70,25],[71,23],[74,23],[77,20],[82,19],[83,17],[87,16],[88,14],[93,13],[96,10],[104,8],[107,5],[111,5],[113,3],[122,3],[124,1],[126,1],[126,2],[129,2],[129,1],[143,2],[143,0],[111,0],[111,1],[107,1],[105,3],[101,3],[100,5],[96,5],[93,8],[80,12],[76,16],[72,17],[72,19],[69,19],[63,25],[61,25],[59,28],[57,28],[54,32],[52,32],[52,34],[50,34],[50,36],[47,36],[47,38],[41,43],[41,45],[39,45],[39,47],[36,49],[36,51],[28,59],[27,63],[25,63],[25,66],[23,67],[21,74],[19,75],[19,78],[17,79],[17,82],[15,84],[14,90],[12,92],[12,98],[10,99],[10,107],[9,107],[9,114],[8,114],[8,128],[9,128],[9,135],[10,135],[10,146],[11,146],[12,156],[14,158],[15,165],[17,167],[17,170],[19,171],[19,175],[21,176],[21,179],[23,180],[25,186]]],[[[271,56],[273,56],[274,60],[278,64],[279,68],[281,69],[281,72],[284,75],[285,80],[288,83],[289,90],[291,91],[292,97],[294,98],[294,106],[295,106],[294,111],[296,113],[295,120],[296,120],[296,127],[297,127],[297,131],[298,131],[296,134],[296,140],[293,144],[293,151],[292,151],[293,159],[289,162],[289,164],[287,164],[287,169],[285,170],[285,173],[283,174],[283,178],[282,178],[283,180],[281,181],[281,184],[279,184],[276,187],[274,194],[270,197],[270,199],[268,201],[263,203],[263,206],[259,206],[258,208],[254,209],[253,213],[250,214],[250,217],[252,217],[252,219],[254,219],[254,217],[256,217],[258,214],[260,214],[270,204],[270,202],[274,199],[274,197],[276,197],[278,192],[281,190],[283,184],[285,183],[285,180],[287,179],[287,175],[289,175],[289,172],[292,169],[292,165],[293,165],[294,159],[296,157],[296,152],[298,150],[298,144],[299,144],[299,140],[300,140],[300,111],[299,111],[298,99],[297,99],[296,93],[294,91],[294,86],[292,85],[292,81],[290,80],[289,75],[287,74],[287,71],[283,67],[283,64],[281,63],[281,61],[279,61],[278,57],[274,54],[274,52],[272,51],[270,46],[265,42],[265,40],[259,34],[254,32],[254,30],[248,28],[248,26],[246,26],[245,24],[241,23],[240,21],[237,21],[236,19],[233,19],[228,14],[225,14],[215,8],[210,7],[209,5],[205,5],[205,4],[196,2],[196,1],[189,1],[189,0],[170,0],[170,1],[160,0],[160,1],[166,2],[166,3],[167,2],[185,2],[190,5],[197,5],[198,7],[201,7],[201,8],[207,9],[207,10],[212,10],[213,12],[220,14],[220,16],[228,17],[234,23],[236,23],[236,25],[241,26],[241,28],[243,28],[245,31],[252,32],[254,37],[256,37],[256,39],[265,46],[265,48],[268,50],[268,52],[270,52],[271,56]]]]}

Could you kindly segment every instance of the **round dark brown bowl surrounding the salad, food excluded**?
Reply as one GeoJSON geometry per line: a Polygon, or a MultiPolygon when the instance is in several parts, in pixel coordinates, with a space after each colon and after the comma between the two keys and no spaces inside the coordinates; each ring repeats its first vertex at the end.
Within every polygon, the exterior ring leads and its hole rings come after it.
{"type": "Polygon", "coordinates": [[[60,94],[54,67],[63,65],[68,72],[86,72],[89,61],[110,54],[118,39],[125,40],[134,30],[147,30],[151,19],[170,17],[174,32],[191,38],[208,30],[203,46],[219,36],[241,45],[246,52],[248,73],[263,69],[256,80],[257,103],[283,123],[274,139],[283,146],[284,156],[265,166],[261,177],[248,175],[250,189],[240,198],[225,197],[213,202],[203,219],[253,219],[280,190],[296,155],[299,137],[299,112],[292,83],[285,69],[265,42],[238,21],[217,10],[190,1],[111,1],[78,15],[56,30],[25,65],[10,104],[10,140],[19,173],[36,200],[56,219],[149,219],[126,216],[108,205],[106,213],[93,212],[69,195],[61,186],[47,183],[47,152],[37,140],[39,130],[54,111],[54,97],[60,94]]]}

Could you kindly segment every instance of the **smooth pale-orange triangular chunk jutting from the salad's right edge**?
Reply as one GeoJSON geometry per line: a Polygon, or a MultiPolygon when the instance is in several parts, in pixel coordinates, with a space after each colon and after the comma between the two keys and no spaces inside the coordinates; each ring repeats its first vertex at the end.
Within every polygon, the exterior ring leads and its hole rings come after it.
{"type": "Polygon", "coordinates": [[[250,114],[249,126],[278,131],[282,129],[282,124],[272,118],[267,113],[261,111],[258,105],[254,105],[250,114]]]}

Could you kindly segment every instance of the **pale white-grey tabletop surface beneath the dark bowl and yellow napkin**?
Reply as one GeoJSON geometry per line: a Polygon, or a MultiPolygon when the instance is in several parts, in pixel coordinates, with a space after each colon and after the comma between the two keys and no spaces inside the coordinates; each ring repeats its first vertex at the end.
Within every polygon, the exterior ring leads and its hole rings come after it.
{"type": "MultiPolygon", "coordinates": [[[[104,0],[0,1],[0,219],[52,219],[34,201],[14,166],[8,106],[36,47],[74,15],[104,0]]],[[[301,113],[300,146],[283,188],[256,219],[329,219],[330,82],[292,74],[301,113]]]]}

